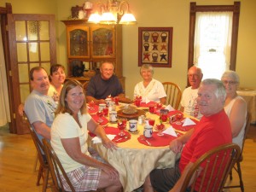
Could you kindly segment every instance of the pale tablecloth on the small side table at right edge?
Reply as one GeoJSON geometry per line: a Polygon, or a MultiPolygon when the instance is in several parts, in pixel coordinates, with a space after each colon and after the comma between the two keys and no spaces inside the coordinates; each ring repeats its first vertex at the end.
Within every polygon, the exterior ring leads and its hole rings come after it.
{"type": "Polygon", "coordinates": [[[247,110],[252,114],[251,123],[256,124],[256,90],[242,89],[236,92],[247,102],[247,110]]]}

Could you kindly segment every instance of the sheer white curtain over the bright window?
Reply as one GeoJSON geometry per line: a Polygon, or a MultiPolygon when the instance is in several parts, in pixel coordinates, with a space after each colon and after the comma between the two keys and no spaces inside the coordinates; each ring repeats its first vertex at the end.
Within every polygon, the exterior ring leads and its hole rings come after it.
{"type": "Polygon", "coordinates": [[[232,12],[196,13],[194,64],[204,79],[220,79],[230,69],[232,18],[232,12]]]}

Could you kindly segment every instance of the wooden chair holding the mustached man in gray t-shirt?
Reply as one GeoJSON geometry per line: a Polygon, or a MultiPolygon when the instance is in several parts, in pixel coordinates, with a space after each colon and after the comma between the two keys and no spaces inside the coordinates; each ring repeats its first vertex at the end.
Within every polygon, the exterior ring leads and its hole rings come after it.
{"type": "MultiPolygon", "coordinates": [[[[24,113],[26,119],[26,113],[24,113]]],[[[28,130],[30,131],[30,135],[32,137],[33,143],[38,152],[38,161],[40,162],[39,170],[38,170],[38,181],[37,185],[40,184],[41,178],[43,178],[43,192],[46,192],[46,189],[49,188],[48,180],[49,180],[49,165],[46,160],[45,152],[44,152],[44,145],[38,139],[37,134],[35,133],[33,126],[30,124],[29,119],[26,120],[26,124],[28,130]]]]}

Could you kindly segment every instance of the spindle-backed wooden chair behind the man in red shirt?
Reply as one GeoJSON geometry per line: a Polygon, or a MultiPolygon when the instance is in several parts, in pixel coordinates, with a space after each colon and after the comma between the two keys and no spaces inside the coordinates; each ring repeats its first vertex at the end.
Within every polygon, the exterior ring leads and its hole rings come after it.
{"type": "Polygon", "coordinates": [[[222,191],[226,178],[236,164],[240,152],[238,145],[229,143],[203,154],[189,169],[180,191],[194,192],[195,184],[198,188],[197,192],[222,191]]]}

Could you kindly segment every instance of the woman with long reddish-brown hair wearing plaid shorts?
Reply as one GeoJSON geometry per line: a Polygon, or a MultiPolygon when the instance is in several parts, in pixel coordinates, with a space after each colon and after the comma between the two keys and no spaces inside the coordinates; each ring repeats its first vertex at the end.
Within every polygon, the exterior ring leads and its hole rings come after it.
{"type": "MultiPolygon", "coordinates": [[[[106,192],[117,192],[122,185],[119,172],[104,163],[99,155],[88,150],[88,131],[102,138],[105,148],[116,149],[108,139],[102,125],[98,125],[87,113],[82,84],[67,81],[62,90],[55,120],[51,126],[51,146],[67,172],[75,191],[104,188],[106,192]]],[[[65,183],[65,178],[62,179],[65,183]]],[[[70,189],[64,185],[66,191],[70,189]]]]}

